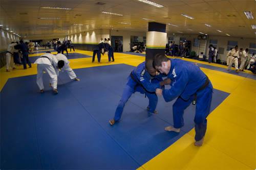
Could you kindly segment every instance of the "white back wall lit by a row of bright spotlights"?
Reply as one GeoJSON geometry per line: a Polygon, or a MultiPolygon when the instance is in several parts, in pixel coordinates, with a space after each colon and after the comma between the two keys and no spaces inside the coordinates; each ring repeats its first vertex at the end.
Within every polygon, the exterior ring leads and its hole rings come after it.
{"type": "Polygon", "coordinates": [[[99,29],[68,35],[68,39],[73,43],[83,44],[97,44],[99,43],[100,38],[110,38],[109,30],[99,29]]]}

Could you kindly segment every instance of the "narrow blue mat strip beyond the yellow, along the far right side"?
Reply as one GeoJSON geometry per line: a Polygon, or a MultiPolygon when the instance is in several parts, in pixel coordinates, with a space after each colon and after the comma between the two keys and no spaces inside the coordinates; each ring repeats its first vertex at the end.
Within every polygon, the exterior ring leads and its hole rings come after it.
{"type": "MultiPolygon", "coordinates": [[[[122,52],[122,53],[145,57],[145,54],[140,54],[140,53],[134,53],[134,52],[122,52]]],[[[191,61],[189,61],[189,62],[191,62],[191,61]]],[[[232,74],[232,75],[246,77],[246,78],[253,79],[253,80],[256,79],[255,75],[251,75],[251,74],[248,74],[246,72],[237,73],[235,70],[227,71],[226,68],[221,68],[221,67],[216,67],[216,66],[207,65],[207,64],[201,64],[201,63],[197,63],[197,65],[200,66],[200,67],[203,67],[203,68],[208,68],[208,69],[213,69],[213,70],[217,70],[217,71],[227,72],[227,73],[232,74]]]]}

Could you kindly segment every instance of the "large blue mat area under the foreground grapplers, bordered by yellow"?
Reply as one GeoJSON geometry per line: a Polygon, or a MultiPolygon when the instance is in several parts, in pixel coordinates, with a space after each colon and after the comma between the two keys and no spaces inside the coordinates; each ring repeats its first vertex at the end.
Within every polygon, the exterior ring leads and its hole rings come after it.
{"type": "MultiPolygon", "coordinates": [[[[127,102],[120,123],[109,125],[133,68],[75,69],[80,82],[61,72],[58,95],[47,75],[44,94],[36,76],[9,79],[1,92],[1,169],[136,169],[191,130],[195,106],[185,110],[182,132],[169,133],[173,103],[160,98],[159,114],[147,114],[140,93],[127,102]]],[[[215,90],[211,110],[227,96],[215,90]]]]}

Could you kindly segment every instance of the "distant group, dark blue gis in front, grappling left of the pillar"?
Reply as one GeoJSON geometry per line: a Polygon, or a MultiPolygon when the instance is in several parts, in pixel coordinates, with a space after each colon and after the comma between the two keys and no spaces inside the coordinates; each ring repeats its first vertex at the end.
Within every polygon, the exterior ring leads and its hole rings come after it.
{"type": "Polygon", "coordinates": [[[92,62],[95,61],[95,56],[97,55],[98,63],[100,63],[101,54],[102,55],[108,54],[109,63],[115,61],[114,49],[111,46],[110,38],[108,38],[108,39],[105,38],[104,40],[103,40],[103,38],[100,39],[100,42],[94,47],[92,62]],[[112,59],[112,61],[111,61],[111,59],[112,59]]]}

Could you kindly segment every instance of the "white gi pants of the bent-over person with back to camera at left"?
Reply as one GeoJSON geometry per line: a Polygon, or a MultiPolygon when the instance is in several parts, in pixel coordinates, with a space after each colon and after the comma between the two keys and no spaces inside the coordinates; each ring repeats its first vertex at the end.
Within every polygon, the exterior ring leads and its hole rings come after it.
{"type": "Polygon", "coordinates": [[[52,65],[48,64],[37,64],[37,76],[36,84],[40,90],[44,89],[44,83],[42,82],[42,75],[44,71],[50,76],[50,83],[52,84],[53,89],[57,89],[57,74],[52,65]]]}

